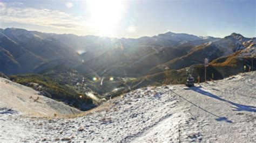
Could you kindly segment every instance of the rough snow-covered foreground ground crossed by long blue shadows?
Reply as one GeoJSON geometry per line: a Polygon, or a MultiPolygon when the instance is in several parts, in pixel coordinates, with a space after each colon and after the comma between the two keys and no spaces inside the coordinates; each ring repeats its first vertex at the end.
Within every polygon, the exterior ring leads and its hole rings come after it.
{"type": "Polygon", "coordinates": [[[142,88],[76,118],[24,117],[0,106],[0,140],[255,142],[255,85],[252,72],[193,88],[142,88]]]}

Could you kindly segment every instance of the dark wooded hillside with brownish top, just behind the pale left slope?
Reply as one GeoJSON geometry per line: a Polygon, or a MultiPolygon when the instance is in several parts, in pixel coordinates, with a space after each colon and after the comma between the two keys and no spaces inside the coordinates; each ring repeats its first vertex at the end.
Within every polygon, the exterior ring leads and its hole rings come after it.
{"type": "MultiPolygon", "coordinates": [[[[23,74],[9,76],[10,80],[19,84],[31,87],[40,91],[42,95],[56,101],[64,102],[79,110],[85,111],[95,108],[95,102],[86,95],[92,92],[90,89],[77,90],[79,74],[72,76],[72,71],[66,70],[64,73],[55,72],[53,75],[23,74]],[[63,75],[65,74],[65,75],[63,75]]],[[[79,80],[80,81],[80,80],[79,80]]],[[[82,88],[82,87],[81,87],[82,88]]]]}

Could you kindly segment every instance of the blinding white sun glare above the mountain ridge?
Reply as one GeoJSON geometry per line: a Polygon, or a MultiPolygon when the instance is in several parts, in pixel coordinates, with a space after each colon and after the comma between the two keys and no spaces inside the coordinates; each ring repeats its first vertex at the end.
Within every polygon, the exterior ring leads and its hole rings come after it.
{"type": "Polygon", "coordinates": [[[87,10],[92,26],[101,35],[113,36],[125,12],[122,0],[91,0],[87,1],[87,10]]]}

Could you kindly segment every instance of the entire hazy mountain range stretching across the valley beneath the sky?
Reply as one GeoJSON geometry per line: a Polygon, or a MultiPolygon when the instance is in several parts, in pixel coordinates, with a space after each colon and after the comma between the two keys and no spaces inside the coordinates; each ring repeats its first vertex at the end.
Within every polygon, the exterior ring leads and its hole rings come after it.
{"type": "MultiPolygon", "coordinates": [[[[170,65],[170,69],[179,69],[202,63],[204,58],[211,61],[244,49],[248,41],[255,40],[237,33],[221,39],[173,32],[138,39],[117,39],[19,28],[1,29],[0,35],[3,55],[0,71],[5,74],[38,73],[64,65],[77,67],[84,74],[102,69],[110,75],[120,76],[122,73],[124,76],[125,72],[134,77],[145,75],[163,64],[170,65]],[[139,70],[140,67],[143,70],[139,70]],[[109,68],[114,69],[109,71],[109,68]]],[[[100,73],[102,71],[97,74],[100,73]]]]}

